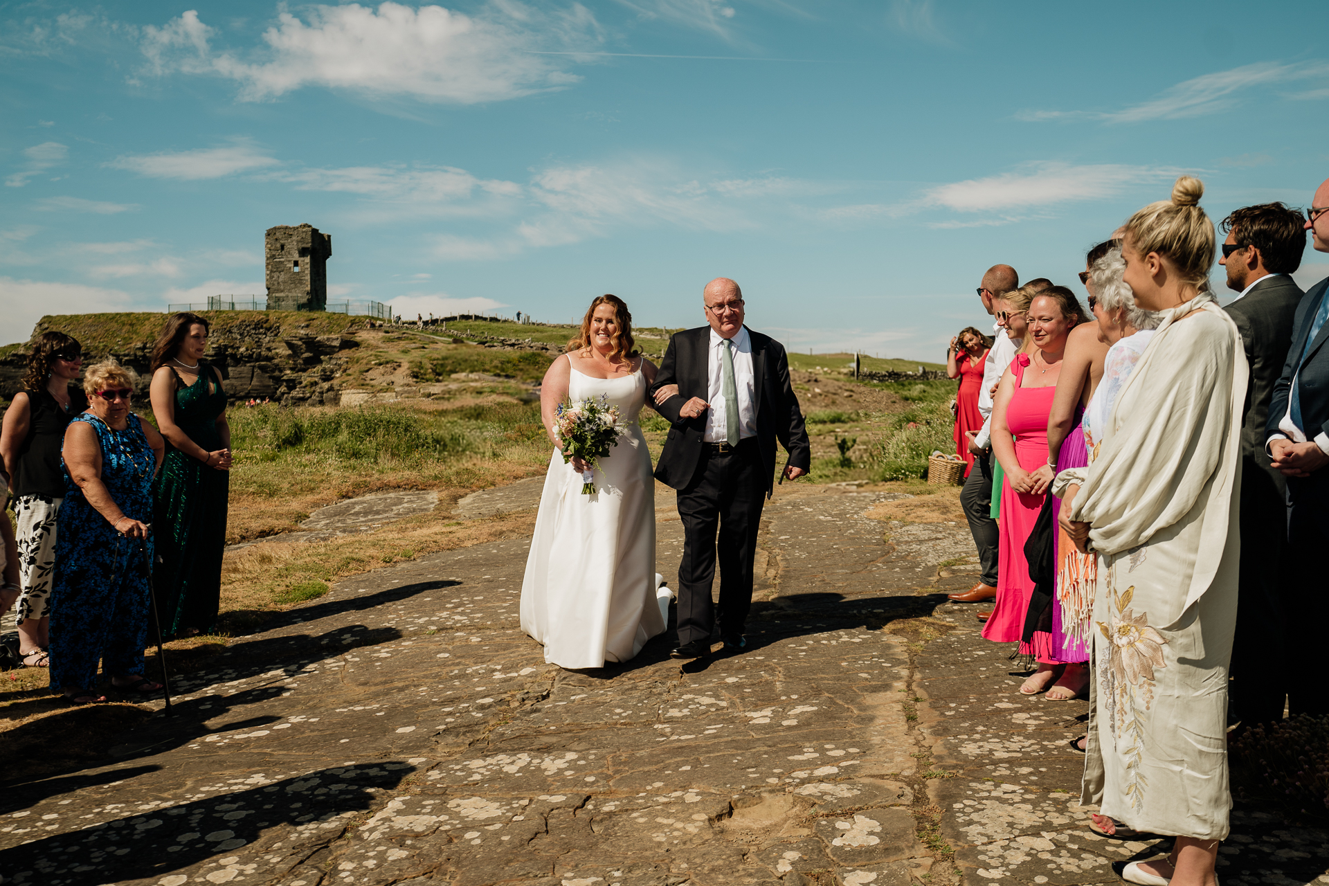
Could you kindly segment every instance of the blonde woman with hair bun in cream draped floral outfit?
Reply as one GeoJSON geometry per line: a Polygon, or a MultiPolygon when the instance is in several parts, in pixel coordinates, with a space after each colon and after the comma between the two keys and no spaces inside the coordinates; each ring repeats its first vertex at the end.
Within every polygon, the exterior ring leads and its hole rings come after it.
{"type": "Polygon", "coordinates": [[[1094,826],[1175,836],[1127,882],[1215,886],[1228,836],[1227,685],[1236,623],[1237,494],[1247,361],[1208,288],[1204,186],[1124,226],[1123,280],[1162,323],[1116,396],[1096,458],[1063,470],[1061,522],[1099,555],[1090,630],[1096,701],[1080,802],[1094,826]],[[1120,822],[1120,824],[1118,824],[1120,822]]]}

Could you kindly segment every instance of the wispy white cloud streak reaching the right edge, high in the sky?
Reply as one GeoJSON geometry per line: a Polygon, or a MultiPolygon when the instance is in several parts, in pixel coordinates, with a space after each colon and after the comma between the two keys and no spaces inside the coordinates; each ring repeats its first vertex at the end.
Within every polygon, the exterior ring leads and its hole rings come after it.
{"type": "MultiPolygon", "coordinates": [[[[1259,61],[1229,70],[1201,74],[1170,86],[1150,101],[1131,105],[1115,112],[1091,110],[1023,110],[1017,118],[1030,122],[1066,118],[1100,120],[1108,124],[1139,124],[1150,120],[1183,120],[1203,117],[1233,108],[1239,93],[1259,86],[1329,78],[1329,62],[1305,61],[1280,64],[1259,61]]],[[[1329,89],[1302,92],[1293,98],[1324,98],[1329,89]]]]}

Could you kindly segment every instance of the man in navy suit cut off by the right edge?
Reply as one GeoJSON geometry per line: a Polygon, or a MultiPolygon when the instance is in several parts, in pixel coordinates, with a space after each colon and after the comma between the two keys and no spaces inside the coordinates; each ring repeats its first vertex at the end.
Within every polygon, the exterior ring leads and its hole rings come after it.
{"type": "MultiPolygon", "coordinates": [[[[1329,181],[1312,201],[1306,228],[1317,252],[1329,252],[1329,181]]],[[[1329,278],[1297,306],[1292,347],[1275,385],[1265,426],[1271,465],[1288,478],[1288,553],[1284,612],[1290,658],[1271,679],[1288,685],[1289,713],[1329,713],[1320,644],[1329,624],[1324,569],[1329,561],[1329,278]]],[[[1244,554],[1244,551],[1243,551],[1244,554]]]]}

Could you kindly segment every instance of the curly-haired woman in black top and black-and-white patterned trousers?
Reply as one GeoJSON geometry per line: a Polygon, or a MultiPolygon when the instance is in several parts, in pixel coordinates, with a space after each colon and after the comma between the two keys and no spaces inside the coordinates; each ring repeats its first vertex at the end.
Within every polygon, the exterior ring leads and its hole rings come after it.
{"type": "MultiPolygon", "coordinates": [[[[4,413],[0,456],[9,474],[17,518],[19,654],[28,667],[49,664],[51,574],[56,557],[56,517],[65,495],[60,446],[69,421],[88,406],[73,384],[82,371],[82,347],[64,332],[43,332],[32,353],[23,391],[4,413]]],[[[8,608],[8,607],[5,607],[8,608]]]]}

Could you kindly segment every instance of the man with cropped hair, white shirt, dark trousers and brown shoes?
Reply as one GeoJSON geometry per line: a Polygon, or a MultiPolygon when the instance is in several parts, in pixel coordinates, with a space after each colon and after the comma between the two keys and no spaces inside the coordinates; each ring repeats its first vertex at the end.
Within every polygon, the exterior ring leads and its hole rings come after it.
{"type": "MultiPolygon", "coordinates": [[[[1019,287],[1019,275],[1009,264],[994,264],[983,274],[978,283],[978,300],[987,313],[997,316],[993,325],[993,347],[987,351],[987,360],[983,363],[983,387],[978,391],[978,412],[983,422],[993,412],[993,387],[1006,372],[1006,367],[1015,359],[1019,348],[1010,336],[1006,335],[1006,317],[998,315],[1003,311],[1001,298],[1019,287]]],[[[983,425],[986,429],[986,424],[983,425]]],[[[983,432],[979,432],[979,437],[983,432]]],[[[950,594],[950,599],[958,603],[981,603],[997,596],[997,549],[1001,539],[997,533],[997,521],[991,518],[993,498],[993,469],[991,449],[986,440],[971,438],[969,450],[974,453],[974,469],[965,480],[965,487],[960,491],[960,505],[965,509],[965,519],[969,521],[969,531],[974,537],[974,547],[978,549],[978,562],[982,573],[978,583],[964,594],[950,594]]]]}

